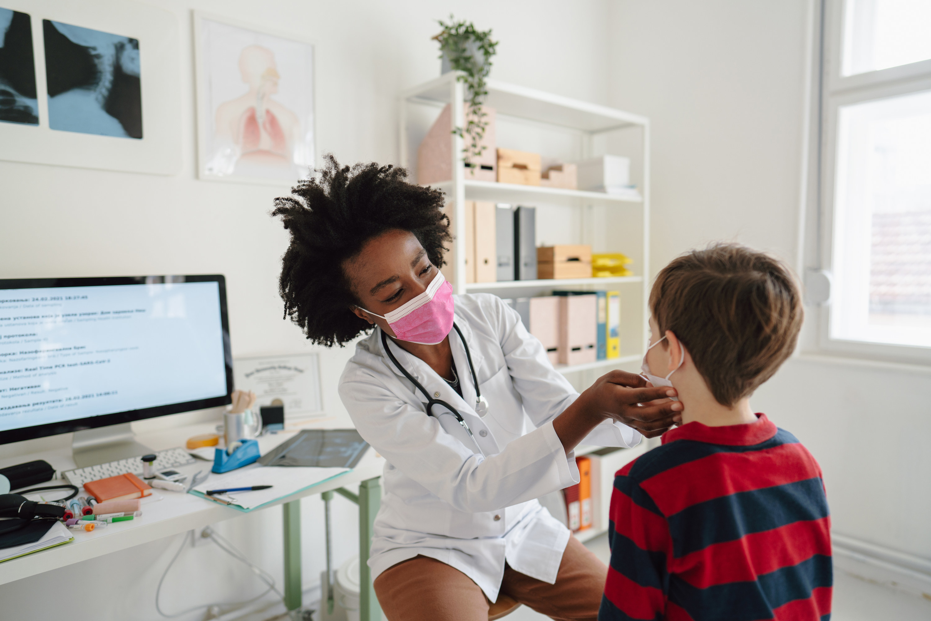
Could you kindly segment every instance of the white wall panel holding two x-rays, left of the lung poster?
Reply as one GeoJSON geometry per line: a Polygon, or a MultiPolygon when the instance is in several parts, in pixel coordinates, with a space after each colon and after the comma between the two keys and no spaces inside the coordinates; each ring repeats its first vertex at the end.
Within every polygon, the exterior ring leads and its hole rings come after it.
{"type": "Polygon", "coordinates": [[[179,47],[160,8],[0,0],[0,159],[174,174],[179,47]]]}

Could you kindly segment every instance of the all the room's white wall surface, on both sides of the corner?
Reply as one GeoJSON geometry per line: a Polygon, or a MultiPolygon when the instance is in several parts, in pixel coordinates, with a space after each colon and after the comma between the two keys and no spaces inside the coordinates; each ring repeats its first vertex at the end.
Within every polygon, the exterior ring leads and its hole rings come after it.
{"type": "MultiPolygon", "coordinates": [[[[796,251],[803,115],[803,0],[323,3],[266,0],[157,3],[182,36],[178,84],[181,172],[155,177],[0,162],[0,277],[145,273],[226,275],[236,356],[304,351],[281,319],[278,258],[287,237],[267,212],[287,192],[196,180],[190,9],[304,34],[317,44],[319,152],[341,160],[397,158],[398,89],[439,73],[435,18],[492,27],[492,75],[653,120],[653,271],[681,250],[736,239],[789,261],[796,251]]],[[[143,52],[144,53],[144,52],[143,52]]],[[[321,354],[324,405],[344,415],[334,383],[348,349],[321,354]]],[[[754,400],[795,433],[824,468],[839,532],[931,558],[926,375],[793,359],[754,400]]],[[[344,420],[344,419],[342,419],[344,420]]],[[[144,425],[143,425],[144,426],[144,425]]],[[[66,445],[70,439],[49,442],[66,445]]],[[[29,445],[34,446],[34,445],[29,445]]],[[[0,446],[0,458],[28,447],[0,446]]],[[[355,553],[355,508],[337,498],[336,560],[355,553]]],[[[304,501],[304,581],[322,563],[317,499],[304,501]]],[[[277,510],[221,531],[280,577],[277,510]]],[[[57,601],[96,601],[100,619],[155,619],[155,581],[177,539],[0,587],[5,616],[57,601]]],[[[185,550],[166,607],[259,592],[222,553],[185,550]]],[[[189,614],[185,618],[200,618],[189,614]]]]}

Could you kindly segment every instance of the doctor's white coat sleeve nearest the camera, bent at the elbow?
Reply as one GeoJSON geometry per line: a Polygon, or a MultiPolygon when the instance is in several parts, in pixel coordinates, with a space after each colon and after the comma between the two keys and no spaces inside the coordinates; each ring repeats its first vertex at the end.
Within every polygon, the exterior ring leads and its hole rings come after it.
{"type": "Polygon", "coordinates": [[[459,511],[495,511],[578,482],[578,470],[574,462],[570,466],[552,424],[486,458],[365,371],[344,377],[339,392],[365,441],[405,476],[459,511]]]}

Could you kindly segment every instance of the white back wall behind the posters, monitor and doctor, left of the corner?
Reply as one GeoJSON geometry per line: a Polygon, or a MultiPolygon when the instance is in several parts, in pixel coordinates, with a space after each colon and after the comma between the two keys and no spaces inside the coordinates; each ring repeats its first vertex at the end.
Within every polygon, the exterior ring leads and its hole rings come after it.
{"type": "MultiPolygon", "coordinates": [[[[92,0],[88,0],[90,2],[92,0]]],[[[256,28],[300,34],[316,44],[319,153],[343,162],[397,161],[397,94],[439,75],[430,37],[437,18],[474,20],[501,41],[495,78],[606,103],[607,2],[492,0],[320,2],[318,0],[164,0],[181,29],[183,149],[170,177],[0,162],[0,277],[222,273],[227,278],[235,356],[301,352],[300,331],[282,320],[279,257],[287,236],[268,217],[280,188],[196,180],[191,9],[247,21],[256,28]]],[[[131,10],[127,3],[127,10],[131,10]]],[[[142,48],[144,54],[144,47],[142,48]]],[[[143,77],[144,79],[144,77],[143,77]]],[[[344,418],[335,383],[351,348],[321,353],[324,406],[344,418]]],[[[213,412],[207,412],[212,414],[213,412]]],[[[140,428],[152,425],[137,425],[140,428]]],[[[17,452],[70,445],[67,436],[0,445],[17,452]]],[[[357,551],[355,507],[337,497],[337,561],[357,551]]],[[[304,501],[304,582],[322,567],[320,501],[304,501]]],[[[280,514],[270,510],[224,522],[221,532],[280,579],[280,514]]],[[[0,587],[3,616],[32,618],[57,602],[92,605],[96,618],[155,619],[155,582],[180,543],[156,542],[0,587]],[[75,579],[100,572],[100,579],[75,579]],[[105,577],[104,577],[105,576],[105,577]]],[[[175,612],[202,601],[232,601],[260,592],[259,583],[212,547],[185,550],[166,584],[175,612]]],[[[183,618],[201,618],[188,614],[183,618]]]]}

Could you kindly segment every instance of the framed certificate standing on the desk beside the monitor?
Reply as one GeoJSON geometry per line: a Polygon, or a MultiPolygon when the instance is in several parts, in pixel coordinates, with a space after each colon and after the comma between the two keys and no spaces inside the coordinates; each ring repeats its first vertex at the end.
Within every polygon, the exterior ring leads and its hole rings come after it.
{"type": "Polygon", "coordinates": [[[324,415],[317,354],[236,358],[233,385],[254,392],[256,407],[283,405],[286,421],[324,415]]]}

